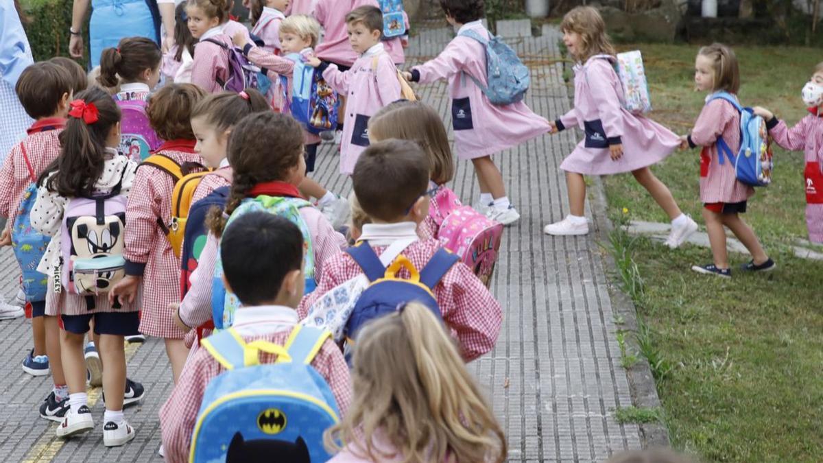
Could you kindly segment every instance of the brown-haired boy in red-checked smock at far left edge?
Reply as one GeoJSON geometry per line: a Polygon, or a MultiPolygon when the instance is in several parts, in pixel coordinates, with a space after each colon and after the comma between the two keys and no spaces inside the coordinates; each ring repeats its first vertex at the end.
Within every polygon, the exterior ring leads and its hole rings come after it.
{"type": "MultiPolygon", "coordinates": [[[[66,124],[73,83],[71,74],[57,63],[32,64],[17,79],[17,96],[35,123],[28,129],[26,138],[12,147],[0,169],[0,215],[8,217],[2,232],[3,246],[12,244],[11,227],[26,189],[60,154],[58,134],[66,124]]],[[[40,416],[62,420],[68,409],[68,388],[60,362],[58,320],[45,316],[45,301],[28,302],[34,348],[23,360],[23,371],[33,376],[48,375],[51,360],[54,387],[40,405],[40,416]]]]}

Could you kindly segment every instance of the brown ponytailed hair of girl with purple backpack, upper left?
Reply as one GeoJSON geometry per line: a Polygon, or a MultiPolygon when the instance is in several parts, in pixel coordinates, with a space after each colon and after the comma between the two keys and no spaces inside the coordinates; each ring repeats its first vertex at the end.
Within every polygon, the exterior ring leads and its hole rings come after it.
{"type": "Polygon", "coordinates": [[[154,40],[146,37],[126,37],[117,48],[104,49],[100,54],[100,76],[97,80],[103,87],[117,85],[118,76],[124,82],[139,80],[146,69],[154,71],[160,66],[163,53],[154,40]]]}

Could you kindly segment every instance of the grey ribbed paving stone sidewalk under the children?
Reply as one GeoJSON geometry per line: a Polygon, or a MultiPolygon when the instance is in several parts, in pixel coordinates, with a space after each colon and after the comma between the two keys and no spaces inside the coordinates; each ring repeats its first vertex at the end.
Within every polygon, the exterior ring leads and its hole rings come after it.
{"type": "MultiPolygon", "coordinates": [[[[407,49],[409,64],[435,57],[453,36],[442,24],[419,30],[407,49]]],[[[500,33],[532,68],[528,105],[550,119],[569,110],[570,90],[555,62],[559,33],[544,26],[541,36],[532,37],[528,21],[509,21],[500,33]]],[[[445,83],[418,90],[450,124],[445,83]]],[[[542,234],[544,224],[568,211],[558,166],[578,135],[546,135],[495,157],[523,218],[504,233],[492,281],[504,307],[500,339],[491,353],[469,367],[509,437],[509,461],[602,461],[614,451],[641,445],[639,428],[616,423],[612,416],[614,409],[632,402],[596,238],[542,234]]],[[[338,193],[351,189],[337,174],[332,145],[323,145],[315,177],[338,193]]],[[[467,203],[477,198],[471,163],[458,161],[453,189],[467,203]]],[[[0,289],[7,297],[13,297],[17,278],[11,252],[0,250],[0,289]]],[[[30,343],[26,321],[0,321],[0,461],[160,461],[157,412],[172,387],[160,340],[128,351],[128,375],[146,386],[146,399],[126,411],[137,437],[114,449],[103,447],[99,389],[90,392],[94,432],[63,442],[54,437],[55,424],[38,417],[50,378],[32,378],[21,371],[30,343]]]]}

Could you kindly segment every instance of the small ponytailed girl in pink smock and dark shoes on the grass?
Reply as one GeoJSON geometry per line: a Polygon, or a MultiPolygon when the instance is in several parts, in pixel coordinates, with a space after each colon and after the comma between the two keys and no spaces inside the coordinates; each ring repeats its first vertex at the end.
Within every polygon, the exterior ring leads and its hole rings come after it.
{"type": "Polygon", "coordinates": [[[691,134],[683,138],[683,144],[692,148],[703,147],[700,151],[700,202],[703,203],[703,218],[706,232],[712,246],[713,264],[695,265],[691,269],[700,274],[731,278],[728,266],[726,232],[723,226],[737,236],[749,250],[753,260],[744,264],[744,270],[773,270],[777,265],[765,254],[755,232],[740,217],[746,212],[746,200],[755,194],[755,189],[737,181],[734,164],[720,163],[718,138],[737,152],[740,148],[740,113],[732,103],[723,99],[711,100],[715,92],[725,91],[737,98],[740,88],[740,73],[737,57],[732,49],[723,44],[703,47],[695,59],[695,88],[709,91],[706,105],[700,111],[691,134]]]}

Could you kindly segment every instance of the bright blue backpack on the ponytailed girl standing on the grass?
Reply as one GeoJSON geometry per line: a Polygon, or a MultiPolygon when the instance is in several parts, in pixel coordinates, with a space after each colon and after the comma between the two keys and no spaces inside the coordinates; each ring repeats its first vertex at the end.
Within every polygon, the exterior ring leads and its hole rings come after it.
{"type": "Polygon", "coordinates": [[[765,120],[755,115],[751,108],[742,107],[734,96],[725,91],[718,91],[710,96],[709,101],[713,100],[728,101],[740,112],[740,151],[735,156],[723,137],[718,137],[718,162],[725,163],[725,153],[728,160],[734,164],[734,173],[738,181],[750,186],[768,186],[771,183],[774,164],[765,120]]]}

